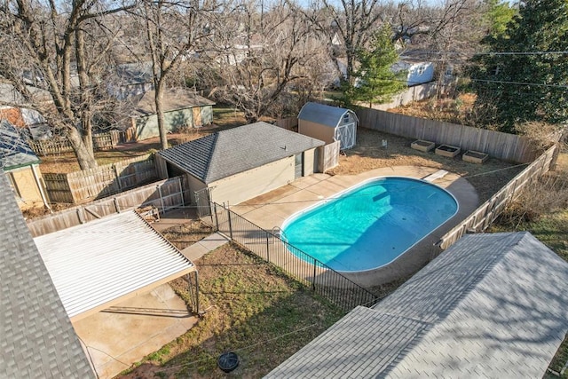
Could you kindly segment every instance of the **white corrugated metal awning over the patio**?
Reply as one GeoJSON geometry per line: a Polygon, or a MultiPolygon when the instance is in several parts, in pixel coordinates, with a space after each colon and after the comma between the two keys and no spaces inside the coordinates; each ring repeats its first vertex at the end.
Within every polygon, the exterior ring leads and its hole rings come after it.
{"type": "Polygon", "coordinates": [[[133,210],[34,241],[72,321],[197,271],[133,210]]]}

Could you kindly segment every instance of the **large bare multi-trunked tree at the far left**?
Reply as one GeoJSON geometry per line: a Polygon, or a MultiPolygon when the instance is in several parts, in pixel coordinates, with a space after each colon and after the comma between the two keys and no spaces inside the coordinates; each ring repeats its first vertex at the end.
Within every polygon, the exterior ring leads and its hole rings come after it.
{"type": "Polygon", "coordinates": [[[0,75],[68,138],[82,169],[97,166],[92,117],[106,97],[99,74],[113,45],[104,18],[131,6],[16,0],[0,8],[0,75]]]}

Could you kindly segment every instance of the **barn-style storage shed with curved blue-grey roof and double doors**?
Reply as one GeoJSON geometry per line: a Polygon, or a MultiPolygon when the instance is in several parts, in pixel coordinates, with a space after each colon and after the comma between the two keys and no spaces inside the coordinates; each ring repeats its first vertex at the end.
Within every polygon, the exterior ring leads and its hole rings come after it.
{"type": "Polygon", "coordinates": [[[298,114],[298,132],[326,144],[340,141],[340,148],[346,150],[355,146],[358,122],[357,114],[349,109],[306,103],[298,114]]]}

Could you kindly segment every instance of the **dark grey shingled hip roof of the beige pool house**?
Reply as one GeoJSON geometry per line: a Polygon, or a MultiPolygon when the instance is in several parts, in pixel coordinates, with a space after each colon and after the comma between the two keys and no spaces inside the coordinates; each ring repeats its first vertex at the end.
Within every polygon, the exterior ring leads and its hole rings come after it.
{"type": "Polygon", "coordinates": [[[322,145],[319,139],[255,122],[217,131],[158,154],[209,184],[322,145]]]}

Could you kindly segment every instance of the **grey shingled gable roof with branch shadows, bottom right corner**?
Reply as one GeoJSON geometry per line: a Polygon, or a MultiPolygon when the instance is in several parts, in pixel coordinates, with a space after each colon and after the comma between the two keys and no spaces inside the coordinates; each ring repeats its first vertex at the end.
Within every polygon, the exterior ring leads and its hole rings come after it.
{"type": "Polygon", "coordinates": [[[568,263],[532,234],[466,235],[267,377],[541,377],[568,330],[567,288],[568,263]]]}

